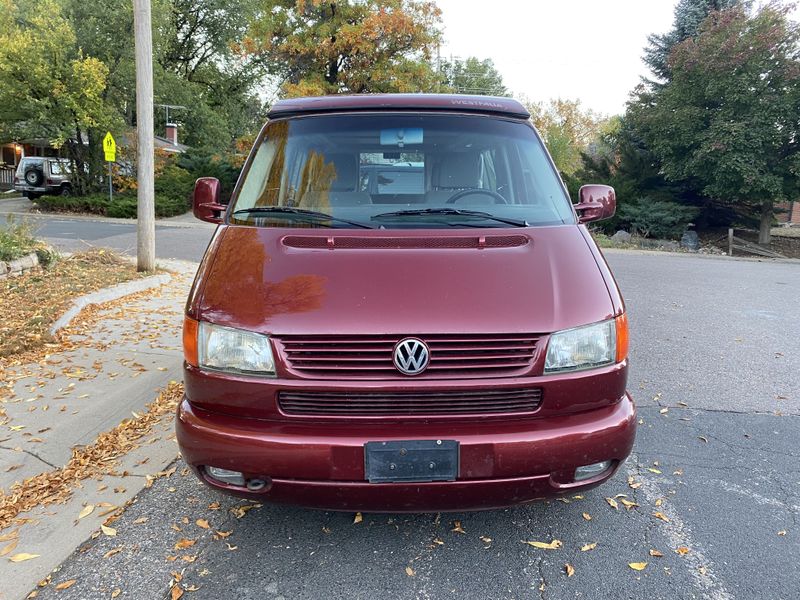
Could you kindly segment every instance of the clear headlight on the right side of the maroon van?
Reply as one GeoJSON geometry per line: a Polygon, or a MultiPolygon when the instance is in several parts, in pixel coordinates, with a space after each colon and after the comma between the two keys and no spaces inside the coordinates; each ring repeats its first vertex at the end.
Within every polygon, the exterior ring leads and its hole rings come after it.
{"type": "Polygon", "coordinates": [[[616,357],[617,325],[615,319],[610,319],[551,335],[544,372],[591,369],[612,364],[616,357]]]}

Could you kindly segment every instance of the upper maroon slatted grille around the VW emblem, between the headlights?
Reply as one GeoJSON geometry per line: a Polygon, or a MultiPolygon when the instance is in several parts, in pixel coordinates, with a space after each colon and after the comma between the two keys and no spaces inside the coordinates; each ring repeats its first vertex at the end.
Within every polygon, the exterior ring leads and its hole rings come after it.
{"type": "MultiPolygon", "coordinates": [[[[409,336],[284,336],[277,338],[289,369],[313,379],[405,378],[394,366],[395,345],[409,336]]],[[[417,336],[430,364],[417,379],[509,377],[531,368],[538,338],[529,334],[417,336]]]]}

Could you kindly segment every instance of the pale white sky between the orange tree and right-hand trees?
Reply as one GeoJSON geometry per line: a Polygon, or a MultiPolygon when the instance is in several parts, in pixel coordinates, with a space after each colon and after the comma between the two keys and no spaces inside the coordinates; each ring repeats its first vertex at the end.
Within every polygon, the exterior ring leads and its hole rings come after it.
{"type": "Polygon", "coordinates": [[[676,0],[437,0],[443,57],[491,58],[513,95],[612,115],[647,74],[642,49],[676,0]]]}

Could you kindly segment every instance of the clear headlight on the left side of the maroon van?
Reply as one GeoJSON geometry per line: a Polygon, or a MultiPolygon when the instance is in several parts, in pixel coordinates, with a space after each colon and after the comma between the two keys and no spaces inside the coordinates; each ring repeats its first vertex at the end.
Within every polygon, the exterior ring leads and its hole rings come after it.
{"type": "Polygon", "coordinates": [[[201,367],[275,375],[275,360],[266,335],[201,321],[197,342],[201,367]]]}

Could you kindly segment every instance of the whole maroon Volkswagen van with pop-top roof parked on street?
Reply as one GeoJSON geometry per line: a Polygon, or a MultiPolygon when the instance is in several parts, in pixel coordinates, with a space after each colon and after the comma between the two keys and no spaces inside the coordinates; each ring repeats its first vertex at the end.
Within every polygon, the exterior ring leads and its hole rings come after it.
{"type": "Polygon", "coordinates": [[[277,102],[184,326],[183,457],[307,507],[487,509],[575,493],[631,451],[628,324],[529,114],[507,98],[277,102]]]}

